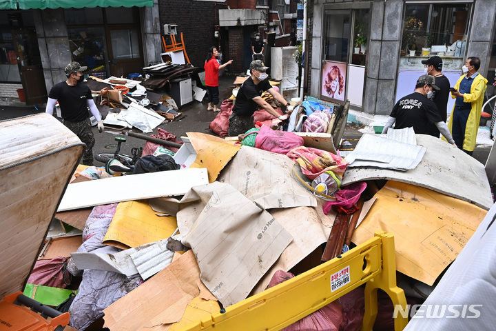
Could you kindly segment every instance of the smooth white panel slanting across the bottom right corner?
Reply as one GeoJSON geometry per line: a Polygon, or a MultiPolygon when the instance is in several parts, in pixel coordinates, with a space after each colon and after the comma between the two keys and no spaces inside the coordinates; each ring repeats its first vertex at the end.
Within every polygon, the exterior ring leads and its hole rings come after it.
{"type": "Polygon", "coordinates": [[[493,205],[405,331],[494,330],[495,218],[493,205]],[[428,318],[433,316],[437,318],[428,318]]]}

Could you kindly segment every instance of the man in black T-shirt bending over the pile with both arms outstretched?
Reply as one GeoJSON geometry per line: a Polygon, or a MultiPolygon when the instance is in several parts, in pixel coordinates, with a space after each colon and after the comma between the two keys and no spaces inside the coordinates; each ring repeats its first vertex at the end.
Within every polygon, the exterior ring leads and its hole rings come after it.
{"type": "Polygon", "coordinates": [[[278,117],[280,120],[287,119],[287,115],[280,115],[272,106],[260,97],[262,92],[269,92],[274,99],[285,105],[288,110],[291,110],[289,103],[277,92],[269,83],[265,71],[269,67],[264,66],[260,60],[255,60],[250,63],[251,77],[249,77],[240,87],[236,95],[233,112],[229,117],[229,136],[237,136],[254,128],[254,112],[257,106],[265,109],[269,114],[278,117]]]}

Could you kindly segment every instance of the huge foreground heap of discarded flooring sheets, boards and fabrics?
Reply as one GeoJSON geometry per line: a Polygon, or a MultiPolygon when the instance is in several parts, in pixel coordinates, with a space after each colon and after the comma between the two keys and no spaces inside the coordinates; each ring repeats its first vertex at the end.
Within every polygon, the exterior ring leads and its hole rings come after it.
{"type": "MultiPolygon", "coordinates": [[[[56,288],[77,284],[65,304],[76,329],[103,319],[110,330],[178,330],[320,265],[323,244],[333,258],[377,230],[395,235],[403,280],[433,285],[493,205],[484,167],[434,137],[367,136],[342,159],[325,147],[331,133],[300,132],[300,146],[279,154],[190,132],[178,170],[110,177],[77,165],[83,146],[53,117],[3,122],[0,299],[48,270],[56,288]],[[327,172],[340,190],[322,194],[312,184],[327,172]]],[[[325,328],[360,330],[363,312],[357,288],[314,314],[325,328]]]]}

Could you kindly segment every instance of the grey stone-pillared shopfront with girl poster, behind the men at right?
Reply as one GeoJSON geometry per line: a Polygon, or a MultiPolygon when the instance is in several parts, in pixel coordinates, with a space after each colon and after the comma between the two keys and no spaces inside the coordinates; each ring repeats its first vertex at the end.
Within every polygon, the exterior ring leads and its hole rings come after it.
{"type": "Polygon", "coordinates": [[[495,94],[496,1],[313,0],[307,6],[312,97],[349,99],[364,117],[389,115],[424,74],[421,61],[435,54],[453,85],[467,57],[479,57],[486,97],[495,94]]]}

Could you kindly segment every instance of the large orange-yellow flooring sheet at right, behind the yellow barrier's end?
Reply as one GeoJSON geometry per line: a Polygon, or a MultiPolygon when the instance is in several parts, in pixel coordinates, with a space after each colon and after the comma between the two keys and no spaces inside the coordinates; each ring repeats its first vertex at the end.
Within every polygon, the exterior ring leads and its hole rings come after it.
{"type": "Polygon", "coordinates": [[[377,230],[395,236],[396,268],[432,285],[464,248],[486,210],[415,185],[388,181],[351,241],[360,245],[377,230]]]}

